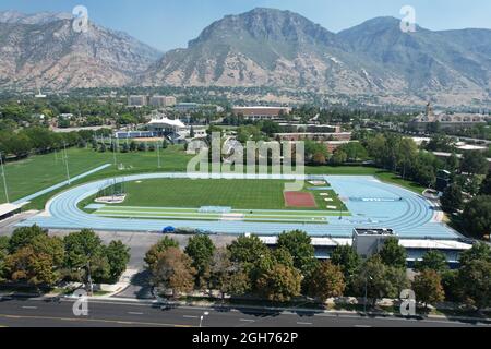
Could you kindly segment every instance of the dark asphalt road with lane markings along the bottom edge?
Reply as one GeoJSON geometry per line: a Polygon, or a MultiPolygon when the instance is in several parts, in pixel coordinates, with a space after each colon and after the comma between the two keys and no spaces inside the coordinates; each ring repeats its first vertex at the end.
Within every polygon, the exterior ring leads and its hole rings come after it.
{"type": "Polygon", "coordinates": [[[89,301],[88,316],[75,316],[71,300],[0,300],[0,326],[12,327],[470,327],[481,323],[362,317],[200,308],[160,309],[133,302],[89,301]]]}

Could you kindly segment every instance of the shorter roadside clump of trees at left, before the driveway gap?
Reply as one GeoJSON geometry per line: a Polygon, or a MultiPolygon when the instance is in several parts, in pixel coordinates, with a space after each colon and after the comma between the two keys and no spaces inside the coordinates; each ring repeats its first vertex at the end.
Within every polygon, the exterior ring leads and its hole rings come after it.
{"type": "Polygon", "coordinates": [[[130,249],[121,241],[103,244],[92,230],[63,239],[37,226],[0,237],[0,280],[52,287],[62,280],[88,285],[116,282],[127,268],[130,249]]]}

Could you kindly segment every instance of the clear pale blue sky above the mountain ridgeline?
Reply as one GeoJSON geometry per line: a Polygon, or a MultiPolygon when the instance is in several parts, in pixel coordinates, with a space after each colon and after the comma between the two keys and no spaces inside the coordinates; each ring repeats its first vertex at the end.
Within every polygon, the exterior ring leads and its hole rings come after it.
{"type": "Polygon", "coordinates": [[[491,28],[490,0],[0,0],[0,11],[71,12],[77,4],[88,9],[92,21],[160,50],[185,47],[213,21],[256,7],[298,12],[332,32],[375,16],[402,17],[406,4],[430,29],[491,28]]]}

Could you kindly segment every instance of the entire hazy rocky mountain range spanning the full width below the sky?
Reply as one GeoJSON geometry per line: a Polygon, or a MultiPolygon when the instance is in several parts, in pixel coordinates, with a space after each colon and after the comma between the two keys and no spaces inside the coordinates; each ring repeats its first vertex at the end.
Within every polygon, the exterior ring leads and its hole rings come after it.
{"type": "Polygon", "coordinates": [[[0,12],[0,87],[268,86],[403,104],[490,101],[490,29],[404,33],[399,24],[376,17],[332,33],[259,8],[161,53],[94,23],[75,33],[70,15],[0,12]]]}

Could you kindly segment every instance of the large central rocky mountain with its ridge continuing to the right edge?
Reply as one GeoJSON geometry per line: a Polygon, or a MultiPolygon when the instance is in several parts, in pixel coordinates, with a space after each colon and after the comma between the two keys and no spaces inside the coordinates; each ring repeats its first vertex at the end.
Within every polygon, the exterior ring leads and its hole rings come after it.
{"type": "Polygon", "coordinates": [[[272,9],[226,16],[167,52],[144,85],[277,86],[470,103],[490,97],[491,31],[403,33],[379,17],[338,34],[272,9]]]}

